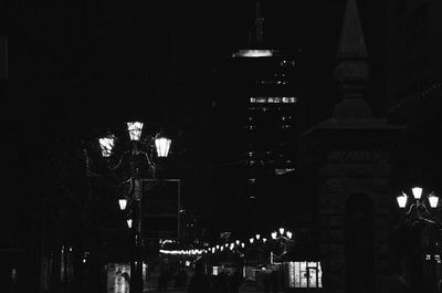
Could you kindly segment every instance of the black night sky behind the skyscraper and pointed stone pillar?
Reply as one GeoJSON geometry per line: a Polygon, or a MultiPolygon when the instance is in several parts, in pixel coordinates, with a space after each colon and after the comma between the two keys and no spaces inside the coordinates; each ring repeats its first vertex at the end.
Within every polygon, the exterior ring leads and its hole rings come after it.
{"type": "MultiPolygon", "coordinates": [[[[358,3],[376,115],[382,114],[382,96],[376,94],[383,86],[382,2],[358,3]]],[[[326,118],[336,103],[332,71],[345,3],[262,0],[265,42],[302,50],[305,128],[326,118]]],[[[127,119],[143,119],[147,127],[151,121],[170,127],[177,138],[175,154],[189,178],[185,201],[210,212],[208,166],[223,163],[217,156],[222,149],[211,143],[213,125],[220,123],[212,115],[213,73],[225,56],[248,45],[254,8],[252,0],[10,3],[4,25],[10,98],[1,102],[1,122],[4,142],[18,143],[18,160],[31,166],[24,174],[38,171],[34,154],[75,148],[92,132],[127,119]]]]}

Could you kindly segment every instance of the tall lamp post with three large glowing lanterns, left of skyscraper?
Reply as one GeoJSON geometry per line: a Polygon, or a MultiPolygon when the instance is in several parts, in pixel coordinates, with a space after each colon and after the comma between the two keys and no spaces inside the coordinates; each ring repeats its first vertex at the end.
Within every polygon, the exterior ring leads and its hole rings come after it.
{"type": "Polygon", "coordinates": [[[114,134],[107,134],[98,139],[102,156],[106,159],[107,166],[112,170],[119,168],[125,158],[130,163],[130,178],[124,180],[122,185],[129,182],[129,191],[118,199],[120,210],[129,208],[130,218],[127,219],[127,226],[134,234],[134,254],[130,262],[130,292],[143,293],[143,190],[141,190],[141,170],[139,160],[145,163],[151,170],[151,176],[156,178],[157,166],[154,160],[155,153],[157,157],[167,157],[171,140],[162,134],[146,136],[141,139],[144,123],[128,122],[127,133],[130,140],[130,148],[123,151],[119,158],[114,153],[117,137],[114,134]],[[156,150],[156,151],[155,151],[156,150]]]}

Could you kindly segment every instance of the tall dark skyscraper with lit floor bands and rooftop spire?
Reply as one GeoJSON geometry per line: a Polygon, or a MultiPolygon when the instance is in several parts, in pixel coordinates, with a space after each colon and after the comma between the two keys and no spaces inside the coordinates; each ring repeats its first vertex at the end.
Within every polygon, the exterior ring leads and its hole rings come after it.
{"type": "MultiPolygon", "coordinates": [[[[246,217],[249,224],[270,213],[284,217],[277,206],[290,189],[288,180],[293,186],[293,177],[298,174],[302,101],[301,51],[265,42],[259,1],[254,23],[252,41],[219,61],[213,104],[215,144],[222,150],[217,156],[228,163],[220,164],[222,168],[217,168],[214,176],[219,172],[230,182],[217,190],[221,203],[214,206],[225,202],[229,210],[234,206],[236,216],[246,217]]],[[[246,226],[245,221],[241,223],[246,226]]],[[[273,227],[276,222],[263,224],[273,227]]]]}

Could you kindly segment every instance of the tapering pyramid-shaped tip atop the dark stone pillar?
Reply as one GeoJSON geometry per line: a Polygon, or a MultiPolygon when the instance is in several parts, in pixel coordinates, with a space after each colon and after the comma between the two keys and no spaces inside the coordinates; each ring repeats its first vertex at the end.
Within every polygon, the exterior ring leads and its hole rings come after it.
{"type": "Polygon", "coordinates": [[[336,53],[337,59],[367,57],[367,48],[360,24],[356,0],[348,0],[340,39],[336,53]]]}

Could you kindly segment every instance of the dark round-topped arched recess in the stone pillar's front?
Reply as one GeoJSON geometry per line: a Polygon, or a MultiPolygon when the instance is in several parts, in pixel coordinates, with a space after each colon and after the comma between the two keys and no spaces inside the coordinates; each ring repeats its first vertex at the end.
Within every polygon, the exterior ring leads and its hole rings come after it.
{"type": "Polygon", "coordinates": [[[347,293],[375,292],[373,202],[352,193],[345,206],[345,284],[347,293]]]}

